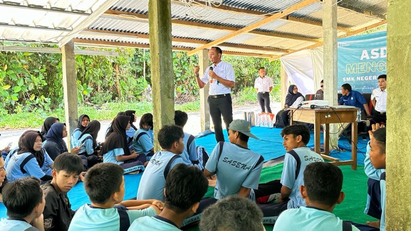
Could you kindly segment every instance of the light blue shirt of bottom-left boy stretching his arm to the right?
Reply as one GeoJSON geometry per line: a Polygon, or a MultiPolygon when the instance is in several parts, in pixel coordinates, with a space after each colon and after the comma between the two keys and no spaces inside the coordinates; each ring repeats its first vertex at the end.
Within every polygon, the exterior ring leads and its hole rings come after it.
{"type": "Polygon", "coordinates": [[[153,207],[136,210],[118,210],[117,208],[96,208],[89,204],[81,206],[71,220],[69,231],[120,230],[126,231],[134,220],[144,216],[153,217],[153,207]]]}

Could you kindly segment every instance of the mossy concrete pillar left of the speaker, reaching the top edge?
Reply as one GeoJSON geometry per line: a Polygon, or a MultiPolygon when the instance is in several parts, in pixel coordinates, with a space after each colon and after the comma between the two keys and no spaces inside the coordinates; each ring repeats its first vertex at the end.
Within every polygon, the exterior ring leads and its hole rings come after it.
{"type": "Polygon", "coordinates": [[[157,140],[163,125],[174,124],[174,73],[171,44],[170,0],[148,1],[150,26],[151,78],[153,84],[154,149],[161,147],[157,140]]]}

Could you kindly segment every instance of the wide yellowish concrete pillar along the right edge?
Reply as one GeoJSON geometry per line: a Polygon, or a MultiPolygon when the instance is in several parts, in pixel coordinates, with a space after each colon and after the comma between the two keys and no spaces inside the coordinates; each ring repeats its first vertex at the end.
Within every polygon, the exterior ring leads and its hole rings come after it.
{"type": "Polygon", "coordinates": [[[388,0],[386,229],[411,230],[411,12],[408,1],[388,0]]]}

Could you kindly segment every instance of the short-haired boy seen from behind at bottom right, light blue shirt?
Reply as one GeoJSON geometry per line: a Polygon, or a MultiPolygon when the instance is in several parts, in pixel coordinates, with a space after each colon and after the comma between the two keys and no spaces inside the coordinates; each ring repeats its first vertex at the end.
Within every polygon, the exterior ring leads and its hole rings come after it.
{"type": "Polygon", "coordinates": [[[326,162],[314,162],[307,165],[304,170],[304,185],[299,187],[301,197],[307,206],[283,211],[275,222],[273,231],[358,231],[358,228],[332,214],[335,204],[340,204],[344,200],[345,194],[341,191],[342,186],[343,172],[339,167],[326,162]]]}

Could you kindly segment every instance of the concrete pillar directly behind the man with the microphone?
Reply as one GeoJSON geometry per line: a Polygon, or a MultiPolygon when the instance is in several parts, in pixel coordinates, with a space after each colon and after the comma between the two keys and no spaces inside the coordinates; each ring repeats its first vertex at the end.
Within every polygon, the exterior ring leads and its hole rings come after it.
{"type": "MultiPolygon", "coordinates": [[[[208,50],[201,50],[198,52],[198,65],[200,66],[200,77],[209,66],[209,52],[208,50]]],[[[210,129],[210,107],[208,103],[210,84],[207,84],[200,89],[200,118],[201,131],[210,129]]]]}

